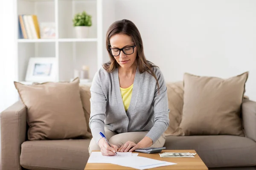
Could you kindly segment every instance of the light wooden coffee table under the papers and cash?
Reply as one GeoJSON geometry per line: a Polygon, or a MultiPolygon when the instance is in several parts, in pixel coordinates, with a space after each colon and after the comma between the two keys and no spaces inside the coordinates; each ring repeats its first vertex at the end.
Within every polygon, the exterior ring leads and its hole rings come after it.
{"type": "MultiPolygon", "coordinates": [[[[195,150],[162,150],[163,152],[190,152],[196,153],[195,150]]],[[[133,152],[139,153],[139,152],[133,152]]],[[[160,161],[168,161],[176,163],[175,165],[169,165],[165,167],[156,167],[151,168],[152,170],[208,170],[207,166],[198,156],[195,155],[195,158],[161,158],[159,153],[139,153],[138,156],[143,156],[146,158],[157,159],[160,161]]],[[[123,167],[116,164],[101,164],[101,163],[87,163],[84,170],[135,170],[131,167],[123,167]]],[[[150,170],[151,170],[150,169],[150,170]]]]}

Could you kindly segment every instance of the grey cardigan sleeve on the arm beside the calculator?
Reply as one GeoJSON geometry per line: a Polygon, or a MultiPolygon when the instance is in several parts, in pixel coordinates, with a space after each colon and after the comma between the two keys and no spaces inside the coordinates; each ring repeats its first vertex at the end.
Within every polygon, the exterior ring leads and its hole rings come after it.
{"type": "Polygon", "coordinates": [[[169,126],[169,108],[166,83],[162,72],[157,69],[156,76],[159,83],[156,85],[154,99],[152,102],[154,108],[154,126],[149,130],[146,136],[152,139],[153,143],[160,138],[169,126]]]}

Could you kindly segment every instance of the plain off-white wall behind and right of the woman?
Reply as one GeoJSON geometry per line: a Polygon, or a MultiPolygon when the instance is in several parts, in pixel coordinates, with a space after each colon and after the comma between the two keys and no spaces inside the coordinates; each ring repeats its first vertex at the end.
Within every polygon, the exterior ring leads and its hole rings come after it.
{"type": "Polygon", "coordinates": [[[233,77],[249,71],[246,94],[256,100],[255,0],[116,0],[116,20],[132,20],[145,55],[166,81],[189,72],[233,77]]]}

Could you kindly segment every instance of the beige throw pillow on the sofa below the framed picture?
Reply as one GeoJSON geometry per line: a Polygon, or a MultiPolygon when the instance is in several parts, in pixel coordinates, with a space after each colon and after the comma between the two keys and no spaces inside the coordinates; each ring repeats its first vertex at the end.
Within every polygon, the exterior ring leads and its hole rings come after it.
{"type": "Polygon", "coordinates": [[[79,79],[23,85],[14,82],[27,107],[28,139],[86,138],[86,119],[79,94],[79,79]]]}

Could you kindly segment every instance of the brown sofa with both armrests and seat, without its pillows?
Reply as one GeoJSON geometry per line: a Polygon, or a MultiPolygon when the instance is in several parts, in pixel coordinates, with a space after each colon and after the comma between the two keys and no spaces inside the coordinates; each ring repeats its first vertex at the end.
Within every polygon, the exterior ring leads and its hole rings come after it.
{"type": "MultiPolygon", "coordinates": [[[[2,170],[83,170],[90,139],[28,141],[26,111],[19,101],[0,114],[2,170]]],[[[209,169],[255,170],[256,102],[245,99],[241,115],[246,137],[166,136],[165,147],[194,149],[209,169]]]]}

